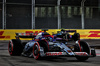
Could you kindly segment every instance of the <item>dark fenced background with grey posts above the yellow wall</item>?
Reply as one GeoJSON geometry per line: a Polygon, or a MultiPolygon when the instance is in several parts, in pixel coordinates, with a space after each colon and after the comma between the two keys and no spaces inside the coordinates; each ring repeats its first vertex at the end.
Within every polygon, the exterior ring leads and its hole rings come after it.
{"type": "Polygon", "coordinates": [[[100,29],[100,0],[0,0],[0,29],[100,29]]]}

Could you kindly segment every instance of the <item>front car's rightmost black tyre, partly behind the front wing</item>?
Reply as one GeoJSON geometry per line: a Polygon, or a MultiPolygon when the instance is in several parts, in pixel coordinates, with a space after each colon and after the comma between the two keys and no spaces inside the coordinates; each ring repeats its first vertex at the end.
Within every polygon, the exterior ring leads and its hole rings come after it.
{"type": "MultiPolygon", "coordinates": [[[[88,54],[90,54],[90,47],[89,45],[84,42],[84,41],[78,41],[79,42],[79,45],[76,45],[75,46],[75,52],[86,52],[88,54]]],[[[89,57],[88,56],[76,56],[76,58],[79,60],[79,61],[85,61],[87,60],[89,57]]]]}

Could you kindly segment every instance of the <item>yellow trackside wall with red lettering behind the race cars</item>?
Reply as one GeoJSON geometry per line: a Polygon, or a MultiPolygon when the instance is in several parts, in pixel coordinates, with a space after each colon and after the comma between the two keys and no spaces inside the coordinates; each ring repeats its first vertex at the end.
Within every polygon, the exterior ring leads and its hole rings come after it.
{"type": "MultiPolygon", "coordinates": [[[[66,29],[69,30],[69,29],[66,29]]],[[[100,30],[96,29],[70,29],[70,30],[76,30],[77,33],[80,33],[81,39],[100,39],[100,30]]],[[[55,34],[57,31],[60,31],[60,29],[49,29],[47,32],[50,34],[55,34]]],[[[35,29],[35,30],[0,30],[0,40],[10,40],[15,39],[16,34],[15,33],[35,33],[35,32],[41,32],[41,29],[35,29]]],[[[21,40],[30,40],[28,39],[22,39],[21,40]]]]}

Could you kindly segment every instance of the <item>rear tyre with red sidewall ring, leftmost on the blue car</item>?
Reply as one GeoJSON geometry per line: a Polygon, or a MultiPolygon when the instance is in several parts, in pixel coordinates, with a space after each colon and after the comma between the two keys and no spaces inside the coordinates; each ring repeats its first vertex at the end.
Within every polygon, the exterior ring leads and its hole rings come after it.
{"type": "Polygon", "coordinates": [[[21,55],[23,51],[23,46],[19,39],[12,39],[9,41],[8,44],[8,51],[11,56],[18,56],[21,55]]]}

